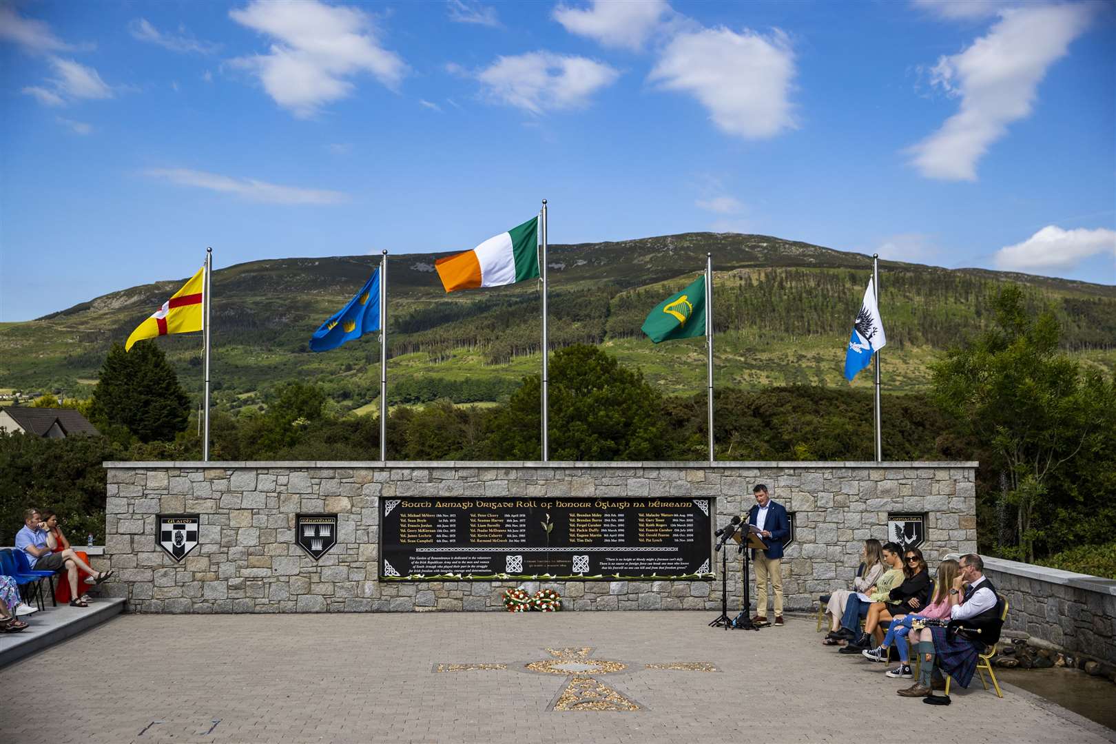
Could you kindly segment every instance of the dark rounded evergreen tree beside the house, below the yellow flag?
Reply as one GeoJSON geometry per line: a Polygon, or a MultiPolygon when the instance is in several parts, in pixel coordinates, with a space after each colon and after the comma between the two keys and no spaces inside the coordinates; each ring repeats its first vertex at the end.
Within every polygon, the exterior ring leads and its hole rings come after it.
{"type": "Polygon", "coordinates": [[[124,427],[141,442],[166,441],[185,428],[190,398],[157,344],[140,341],[131,351],[114,344],[100,368],[90,414],[98,428],[124,427]]]}

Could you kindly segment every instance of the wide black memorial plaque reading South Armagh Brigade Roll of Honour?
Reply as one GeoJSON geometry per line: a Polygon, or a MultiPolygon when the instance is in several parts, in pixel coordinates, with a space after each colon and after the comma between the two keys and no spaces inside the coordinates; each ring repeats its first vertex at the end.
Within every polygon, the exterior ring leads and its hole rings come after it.
{"type": "Polygon", "coordinates": [[[712,579],[709,499],[381,499],[382,581],[712,579]]]}

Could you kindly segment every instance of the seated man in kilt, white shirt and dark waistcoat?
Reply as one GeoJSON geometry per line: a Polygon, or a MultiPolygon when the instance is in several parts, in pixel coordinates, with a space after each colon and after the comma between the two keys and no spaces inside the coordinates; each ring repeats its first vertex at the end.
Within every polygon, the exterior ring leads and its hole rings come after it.
{"type": "Polygon", "coordinates": [[[1003,627],[1003,600],[984,576],[984,561],[975,553],[962,555],[960,571],[950,589],[950,624],[947,627],[924,628],[916,651],[923,655],[922,674],[904,697],[923,697],[931,705],[949,705],[949,696],[939,697],[931,690],[934,661],[942,673],[969,687],[980,654],[1000,640],[1003,627]]]}

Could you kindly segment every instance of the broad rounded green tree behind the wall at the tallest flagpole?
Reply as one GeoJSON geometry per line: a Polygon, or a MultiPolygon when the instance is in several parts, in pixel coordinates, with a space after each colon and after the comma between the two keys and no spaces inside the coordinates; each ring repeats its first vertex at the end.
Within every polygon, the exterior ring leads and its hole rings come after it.
{"type": "MultiPolygon", "coordinates": [[[[662,396],[643,375],[593,346],[570,346],[550,361],[552,460],[656,460],[670,450],[662,396]]],[[[500,460],[541,457],[541,381],[523,378],[493,422],[490,450],[500,460]]]]}

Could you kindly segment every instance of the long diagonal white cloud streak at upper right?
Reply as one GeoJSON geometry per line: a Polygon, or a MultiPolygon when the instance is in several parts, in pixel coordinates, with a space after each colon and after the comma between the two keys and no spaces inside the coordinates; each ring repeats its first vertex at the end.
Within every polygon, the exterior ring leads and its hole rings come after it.
{"type": "Polygon", "coordinates": [[[1004,10],[987,36],[939,59],[932,79],[961,97],[961,110],[907,149],[915,168],[930,178],[975,181],[977,162],[1009,124],[1031,113],[1039,81],[1091,12],[1084,3],[1004,10]]]}

